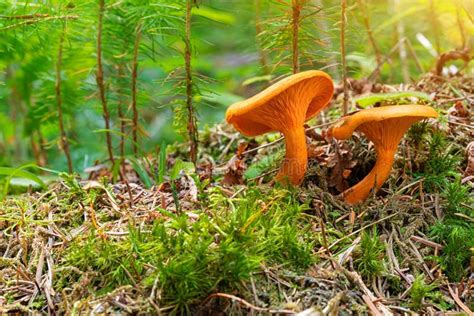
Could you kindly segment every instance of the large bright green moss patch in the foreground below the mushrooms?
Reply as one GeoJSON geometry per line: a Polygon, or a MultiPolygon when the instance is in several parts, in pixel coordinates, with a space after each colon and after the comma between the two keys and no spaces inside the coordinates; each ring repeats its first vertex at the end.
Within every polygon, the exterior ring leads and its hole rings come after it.
{"type": "Polygon", "coordinates": [[[130,227],[121,238],[90,231],[69,245],[63,264],[96,272],[91,283],[97,294],[136,283],[151,289],[158,282],[164,302],[187,311],[213,290],[240,288],[261,264],[304,269],[314,262],[306,206],[294,193],[250,189],[234,205],[214,191],[209,201],[214,208],[196,211],[197,220],[171,214],[149,227],[130,227]]]}

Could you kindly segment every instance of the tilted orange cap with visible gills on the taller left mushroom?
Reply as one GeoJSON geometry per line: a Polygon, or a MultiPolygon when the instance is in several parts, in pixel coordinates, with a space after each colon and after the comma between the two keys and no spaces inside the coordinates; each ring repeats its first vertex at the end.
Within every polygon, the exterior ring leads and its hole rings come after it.
{"type": "Polygon", "coordinates": [[[232,104],[227,109],[226,120],[246,136],[282,131],[285,126],[278,126],[280,118],[285,121],[281,125],[311,119],[329,103],[333,91],[334,85],[327,73],[303,71],[278,81],[247,100],[232,104]]]}

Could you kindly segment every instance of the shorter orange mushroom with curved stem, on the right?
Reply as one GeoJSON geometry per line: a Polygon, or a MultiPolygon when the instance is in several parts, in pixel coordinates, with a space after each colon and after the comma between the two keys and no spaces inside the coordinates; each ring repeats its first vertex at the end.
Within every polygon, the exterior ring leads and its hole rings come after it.
{"type": "Polygon", "coordinates": [[[349,204],[365,200],[372,189],[380,189],[392,169],[393,159],[405,132],[412,124],[438,113],[426,105],[397,105],[362,110],[341,118],[332,129],[337,139],[348,139],[358,130],[374,143],[377,161],[369,174],[342,193],[349,204]]]}

